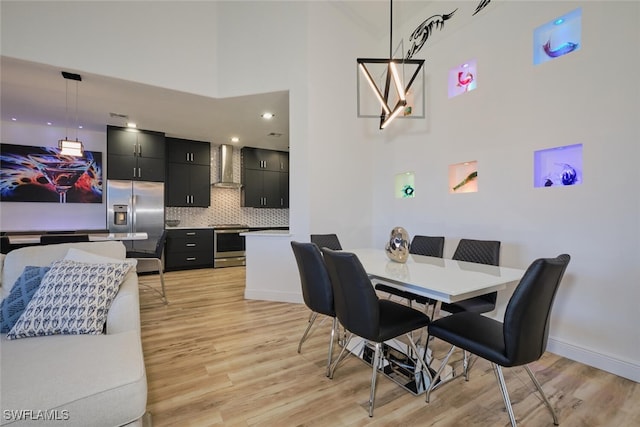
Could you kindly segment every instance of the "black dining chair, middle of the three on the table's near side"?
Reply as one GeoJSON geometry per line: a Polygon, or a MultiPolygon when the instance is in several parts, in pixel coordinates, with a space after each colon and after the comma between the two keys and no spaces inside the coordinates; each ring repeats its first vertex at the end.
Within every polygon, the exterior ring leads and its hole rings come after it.
{"type": "MultiPolygon", "coordinates": [[[[375,353],[371,363],[373,372],[369,395],[369,416],[372,417],[376,377],[382,359],[382,343],[405,335],[410,348],[415,355],[418,355],[411,332],[427,326],[429,317],[404,304],[378,299],[367,272],[355,254],[327,248],[322,252],[333,286],[336,315],[342,326],[350,333],[332,367],[330,376],[333,377],[333,372],[346,354],[345,350],[354,335],[374,343],[375,353]]],[[[430,378],[428,367],[422,358],[417,357],[417,360],[430,378]]]]}

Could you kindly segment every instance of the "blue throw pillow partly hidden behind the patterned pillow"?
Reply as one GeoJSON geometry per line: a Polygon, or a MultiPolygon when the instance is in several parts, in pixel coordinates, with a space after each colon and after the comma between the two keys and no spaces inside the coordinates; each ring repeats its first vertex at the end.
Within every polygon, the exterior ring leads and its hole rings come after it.
{"type": "Polygon", "coordinates": [[[0,304],[0,332],[7,333],[16,324],[49,267],[26,266],[11,288],[11,293],[0,304]]]}

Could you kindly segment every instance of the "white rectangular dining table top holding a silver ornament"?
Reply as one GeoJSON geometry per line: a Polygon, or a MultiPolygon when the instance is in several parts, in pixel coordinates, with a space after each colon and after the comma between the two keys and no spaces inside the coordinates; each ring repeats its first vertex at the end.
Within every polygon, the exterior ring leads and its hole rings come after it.
{"type": "Polygon", "coordinates": [[[410,255],[391,261],[384,249],[346,249],[355,253],[369,275],[385,283],[442,302],[456,302],[516,284],[524,270],[473,262],[410,255]]]}

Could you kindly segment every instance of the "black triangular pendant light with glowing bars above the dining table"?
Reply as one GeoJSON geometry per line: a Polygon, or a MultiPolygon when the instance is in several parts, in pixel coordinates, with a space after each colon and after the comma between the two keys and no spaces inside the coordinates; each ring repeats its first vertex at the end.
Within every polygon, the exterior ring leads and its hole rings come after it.
{"type": "Polygon", "coordinates": [[[405,110],[407,106],[407,93],[424,65],[424,59],[393,59],[393,0],[389,1],[389,6],[389,58],[357,58],[356,60],[360,73],[362,73],[367,83],[369,83],[374,96],[382,107],[382,111],[380,112],[380,129],[387,127],[393,119],[405,110]],[[384,90],[378,88],[367,68],[367,65],[373,64],[386,64],[384,90]],[[403,71],[402,76],[404,76],[404,66],[406,64],[413,65],[415,71],[405,86],[402,82],[400,71],[403,71]],[[391,86],[394,88],[393,94],[390,93],[391,86]],[[396,100],[393,107],[389,105],[390,100],[392,100],[392,103],[393,100],[396,100]]]}

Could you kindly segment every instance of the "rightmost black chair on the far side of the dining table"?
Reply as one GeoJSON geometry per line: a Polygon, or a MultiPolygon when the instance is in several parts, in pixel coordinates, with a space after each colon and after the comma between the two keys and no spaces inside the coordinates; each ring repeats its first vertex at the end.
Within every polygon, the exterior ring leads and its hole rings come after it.
{"type": "MultiPolygon", "coordinates": [[[[460,239],[452,259],[478,264],[500,265],[500,242],[497,240],[460,239]]],[[[442,310],[449,313],[461,311],[488,313],[496,308],[497,298],[498,293],[491,292],[450,304],[443,303],[442,310]]]]}

